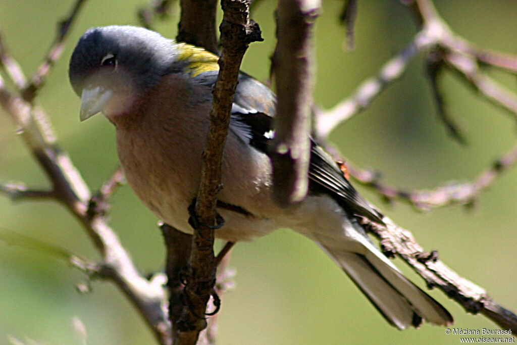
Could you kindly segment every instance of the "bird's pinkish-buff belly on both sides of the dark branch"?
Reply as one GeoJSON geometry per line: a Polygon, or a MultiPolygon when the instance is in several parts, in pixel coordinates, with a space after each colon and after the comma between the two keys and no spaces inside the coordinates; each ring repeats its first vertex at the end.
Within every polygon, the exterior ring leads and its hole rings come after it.
{"type": "MultiPolygon", "coordinates": [[[[163,145],[156,138],[120,130],[117,144],[121,165],[136,196],[162,221],[192,233],[188,206],[199,189],[202,146],[183,144],[184,149],[178,152],[174,144],[163,145]]],[[[216,230],[216,237],[232,242],[250,241],[279,227],[268,217],[269,186],[260,176],[267,169],[263,171],[264,164],[257,165],[253,160],[246,164],[246,158],[250,157],[226,150],[222,166],[223,188],[219,197],[244,211],[218,208],[224,226],[216,230]],[[231,164],[236,161],[244,164],[231,164]]]]}

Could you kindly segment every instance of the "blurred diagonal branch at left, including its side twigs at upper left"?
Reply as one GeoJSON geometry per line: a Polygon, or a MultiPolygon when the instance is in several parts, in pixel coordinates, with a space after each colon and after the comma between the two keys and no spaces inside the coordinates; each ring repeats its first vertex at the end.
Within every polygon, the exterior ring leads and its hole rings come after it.
{"type": "MultiPolygon", "coordinates": [[[[170,339],[168,334],[170,327],[166,312],[163,309],[165,303],[163,287],[154,281],[148,281],[139,274],[129,254],[120,244],[116,234],[108,226],[104,212],[98,212],[90,207],[92,205],[90,190],[79,171],[74,167],[70,157],[57,145],[48,115],[41,108],[33,107],[31,104],[35,92],[42,85],[42,82],[50,72],[50,68],[62,52],[66,32],[77,16],[81,3],[81,1],[78,1],[75,4],[72,15],[62,25],[62,31],[55,40],[55,46],[51,48],[47,57],[48,61],[38,69],[33,82],[24,88],[25,95],[29,97],[24,99],[15,95],[7,88],[2,77],[0,77],[0,107],[10,115],[14,123],[19,127],[18,132],[21,134],[22,140],[52,184],[51,191],[33,193],[34,196],[52,196],[56,201],[63,203],[78,219],[101,253],[102,263],[98,266],[98,276],[114,282],[140,312],[158,342],[166,344],[167,339],[170,339]],[[27,90],[32,91],[29,91],[27,94],[27,90]]],[[[8,56],[6,55],[5,47],[3,50],[2,55],[8,56]]],[[[5,58],[1,59],[1,61],[4,62],[5,58]]],[[[18,64],[13,63],[14,59],[11,58],[8,61],[10,61],[10,65],[2,65],[2,67],[7,70],[12,70],[12,68],[16,70],[18,64]]],[[[10,76],[13,75],[12,72],[9,74],[10,76]]],[[[23,75],[21,70],[17,75],[23,75]]],[[[17,78],[14,78],[15,81],[17,78]]],[[[16,86],[21,86],[18,85],[21,84],[21,80],[18,80],[15,84],[16,86]]],[[[18,89],[15,92],[20,91],[22,90],[18,89]]],[[[110,189],[112,188],[107,187],[99,194],[104,193],[108,196],[111,192],[107,191],[110,189]]],[[[29,197],[29,193],[22,193],[22,195],[29,197]]],[[[14,191],[13,196],[17,196],[16,191],[14,191]]]]}

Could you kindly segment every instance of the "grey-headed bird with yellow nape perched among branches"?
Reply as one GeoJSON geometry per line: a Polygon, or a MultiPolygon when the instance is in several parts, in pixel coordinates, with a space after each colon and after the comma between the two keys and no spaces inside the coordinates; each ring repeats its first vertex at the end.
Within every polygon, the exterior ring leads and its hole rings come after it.
{"type": "MultiPolygon", "coordinates": [[[[89,29],[70,59],[81,121],[102,112],[115,125],[129,185],[156,216],[186,233],[192,233],[188,207],[201,179],[217,60],[201,48],[133,26],[89,29]]],[[[268,87],[240,73],[218,195],[225,225],[216,237],[248,241],[291,228],[320,245],[390,324],[450,324],[449,312],[371,242],[356,217],[384,224],[383,216],[316,142],[307,198],[286,208],[273,201],[268,146],[275,106],[268,87]]]]}

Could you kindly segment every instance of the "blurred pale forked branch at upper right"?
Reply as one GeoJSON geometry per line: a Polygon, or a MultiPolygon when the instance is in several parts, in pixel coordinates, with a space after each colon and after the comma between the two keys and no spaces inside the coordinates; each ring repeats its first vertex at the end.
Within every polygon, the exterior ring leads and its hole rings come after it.
{"type": "MultiPolygon", "coordinates": [[[[364,81],[353,96],[333,109],[318,114],[316,132],[319,138],[326,138],[337,125],[366,109],[389,84],[400,78],[407,63],[417,52],[429,48],[433,48],[431,53],[443,51],[440,57],[452,70],[457,71],[481,95],[517,117],[517,97],[486,76],[477,64],[478,61],[485,65],[493,62],[494,67],[515,73],[517,57],[478,48],[475,44],[454,35],[429,0],[406,1],[406,3],[412,5],[409,8],[417,17],[420,32],[401,54],[390,59],[382,67],[378,76],[364,81]]],[[[450,125],[448,122],[445,123],[450,125]]],[[[456,129],[454,126],[448,126],[448,128],[452,132],[456,129]]]]}

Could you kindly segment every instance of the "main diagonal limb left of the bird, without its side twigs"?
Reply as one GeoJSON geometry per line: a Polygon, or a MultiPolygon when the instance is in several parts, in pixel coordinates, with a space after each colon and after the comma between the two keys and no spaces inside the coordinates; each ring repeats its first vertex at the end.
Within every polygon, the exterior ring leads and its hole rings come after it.
{"type": "Polygon", "coordinates": [[[110,268],[105,276],[111,277],[136,306],[155,335],[161,337],[159,330],[166,323],[161,309],[165,297],[163,288],[151,286],[140,276],[129,254],[102,215],[87,212],[90,192],[86,183],[68,155],[58,148],[54,139],[49,142],[49,138],[32,121],[30,104],[21,98],[12,97],[5,88],[0,87],[0,106],[20,126],[22,138],[52,182],[54,198],[70,209],[101,251],[105,267],[110,268]]]}

